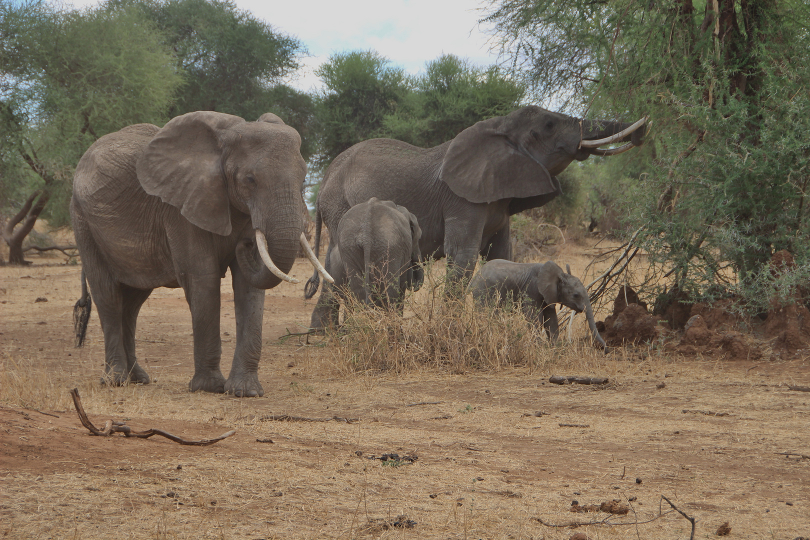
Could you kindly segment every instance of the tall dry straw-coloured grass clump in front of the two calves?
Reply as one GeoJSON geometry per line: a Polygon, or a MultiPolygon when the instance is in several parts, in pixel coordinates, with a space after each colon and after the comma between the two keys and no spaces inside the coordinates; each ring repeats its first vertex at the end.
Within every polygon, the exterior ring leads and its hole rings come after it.
{"type": "Polygon", "coordinates": [[[330,336],[339,371],[535,372],[572,357],[573,347],[552,345],[517,306],[476,308],[469,297],[446,298],[444,276],[433,270],[425,269],[422,291],[406,297],[403,315],[346,300],[343,324],[330,336]]]}

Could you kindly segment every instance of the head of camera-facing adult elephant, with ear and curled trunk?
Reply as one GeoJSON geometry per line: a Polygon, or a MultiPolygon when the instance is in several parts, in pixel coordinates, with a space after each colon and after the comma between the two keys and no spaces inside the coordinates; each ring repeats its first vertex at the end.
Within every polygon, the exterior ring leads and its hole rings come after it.
{"type": "Polygon", "coordinates": [[[147,193],[206,231],[229,236],[232,213],[249,215],[254,230],[239,240],[237,260],[253,287],[268,289],[281,280],[297,282],[287,272],[306,243],[300,147],[298,132],[275,115],[248,122],[198,111],[168,121],[135,169],[147,193]]]}

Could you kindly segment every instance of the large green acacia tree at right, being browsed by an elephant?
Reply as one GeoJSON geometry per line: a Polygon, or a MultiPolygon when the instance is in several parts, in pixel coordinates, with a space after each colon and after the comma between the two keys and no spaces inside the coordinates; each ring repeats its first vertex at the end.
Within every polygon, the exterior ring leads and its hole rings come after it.
{"type": "Polygon", "coordinates": [[[485,21],[536,100],[653,119],[653,144],[606,166],[646,173],[629,225],[680,291],[761,308],[771,254],[810,259],[806,2],[499,0],[485,21]]]}

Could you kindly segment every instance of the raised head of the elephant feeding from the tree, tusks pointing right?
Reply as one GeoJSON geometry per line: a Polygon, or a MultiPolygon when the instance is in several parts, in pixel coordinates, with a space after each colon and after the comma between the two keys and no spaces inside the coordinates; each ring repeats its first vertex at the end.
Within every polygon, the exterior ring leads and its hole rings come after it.
{"type": "Polygon", "coordinates": [[[573,159],[613,155],[640,146],[646,118],[634,124],[590,121],[533,105],[471,125],[441,163],[441,180],[471,202],[513,199],[509,213],[542,206],[561,193],[555,175],[573,159]],[[641,128],[641,129],[640,129],[641,128]],[[624,147],[602,149],[612,142],[624,147]]]}

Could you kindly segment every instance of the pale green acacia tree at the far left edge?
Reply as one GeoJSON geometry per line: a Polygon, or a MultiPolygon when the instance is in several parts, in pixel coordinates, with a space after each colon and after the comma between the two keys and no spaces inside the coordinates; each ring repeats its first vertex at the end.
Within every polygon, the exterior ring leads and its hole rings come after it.
{"type": "Polygon", "coordinates": [[[70,180],[97,138],[164,118],[181,83],[170,52],[131,9],[0,6],[0,190],[9,262],[45,212],[67,223],[70,180]]]}

